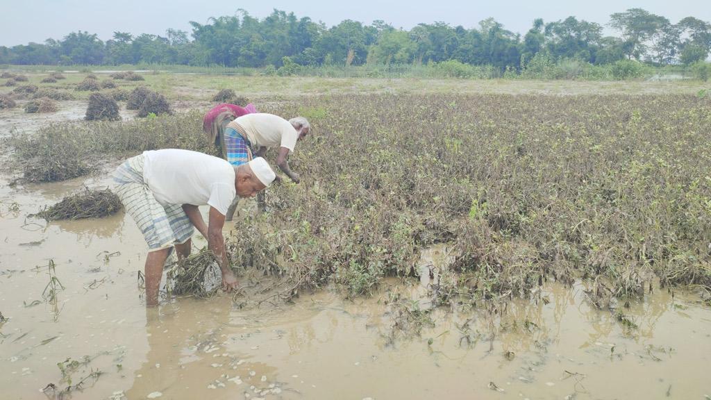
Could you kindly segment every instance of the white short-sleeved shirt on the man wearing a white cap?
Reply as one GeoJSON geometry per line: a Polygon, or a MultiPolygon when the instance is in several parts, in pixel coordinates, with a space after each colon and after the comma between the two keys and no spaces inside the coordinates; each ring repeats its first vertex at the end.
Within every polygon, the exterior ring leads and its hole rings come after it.
{"type": "Polygon", "coordinates": [[[220,214],[235,199],[235,168],[208,154],[164,149],[144,152],[143,179],[163,206],[209,204],[220,214]]]}

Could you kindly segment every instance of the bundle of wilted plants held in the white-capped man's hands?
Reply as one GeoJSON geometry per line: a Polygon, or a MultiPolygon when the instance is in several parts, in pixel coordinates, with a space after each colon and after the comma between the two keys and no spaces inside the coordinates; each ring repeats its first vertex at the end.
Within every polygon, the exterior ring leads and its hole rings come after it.
{"type": "Polygon", "coordinates": [[[220,289],[217,259],[207,246],[168,266],[168,288],[174,295],[209,298],[220,289]]]}

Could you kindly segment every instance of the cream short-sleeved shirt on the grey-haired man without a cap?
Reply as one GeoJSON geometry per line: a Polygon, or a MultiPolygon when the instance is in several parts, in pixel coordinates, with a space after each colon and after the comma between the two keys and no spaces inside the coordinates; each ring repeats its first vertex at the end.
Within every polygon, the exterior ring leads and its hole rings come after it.
{"type": "Polygon", "coordinates": [[[286,147],[289,153],[294,152],[296,140],[299,139],[299,132],[296,132],[292,123],[279,117],[279,115],[257,112],[242,115],[230,122],[228,127],[239,124],[245,128],[247,139],[255,147],[286,147]]]}

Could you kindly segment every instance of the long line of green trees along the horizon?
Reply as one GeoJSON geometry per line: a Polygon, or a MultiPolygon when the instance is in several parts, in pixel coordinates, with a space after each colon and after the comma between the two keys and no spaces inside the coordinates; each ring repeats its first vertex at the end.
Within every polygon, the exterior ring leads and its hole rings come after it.
{"type": "Polygon", "coordinates": [[[121,65],[138,63],[281,67],[299,65],[422,64],[456,60],[470,65],[522,68],[537,55],[596,65],[638,60],[653,65],[706,60],[711,23],[688,16],[672,23],[643,9],[611,14],[604,27],[574,16],[560,21],[535,19],[521,36],[494,19],[477,28],[420,23],[409,31],[383,21],[365,25],[346,20],[327,27],[309,17],[274,10],[264,19],[239,10],[208,23],[191,21],[192,32],[175,29],[165,36],[114,32],[102,41],[85,31],[61,40],[0,46],[0,63],[16,65],[121,65]]]}

